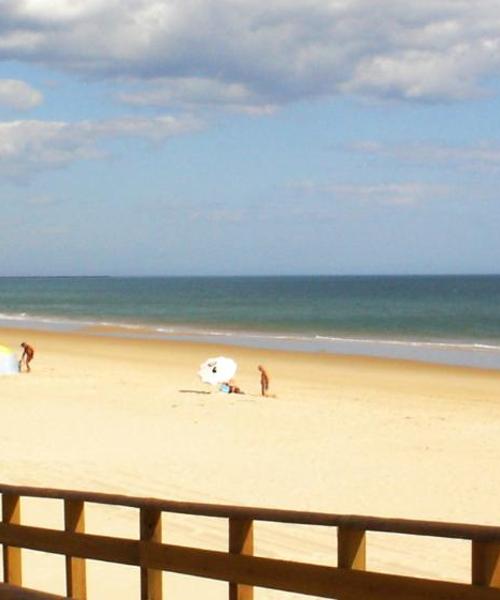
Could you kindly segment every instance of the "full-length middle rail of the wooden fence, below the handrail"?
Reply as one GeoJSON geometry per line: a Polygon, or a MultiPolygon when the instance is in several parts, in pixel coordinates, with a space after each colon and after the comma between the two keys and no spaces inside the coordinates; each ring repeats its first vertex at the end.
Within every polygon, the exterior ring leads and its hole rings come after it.
{"type": "Polygon", "coordinates": [[[249,586],[324,598],[500,600],[500,589],[496,588],[228,554],[173,544],[68,534],[24,525],[0,525],[0,541],[42,552],[142,566],[220,581],[238,581],[249,586]]]}

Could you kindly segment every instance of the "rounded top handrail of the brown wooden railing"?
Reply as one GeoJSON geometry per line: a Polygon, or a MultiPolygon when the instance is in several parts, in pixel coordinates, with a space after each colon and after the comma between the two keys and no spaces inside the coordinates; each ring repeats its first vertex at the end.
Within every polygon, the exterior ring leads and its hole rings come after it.
{"type": "Polygon", "coordinates": [[[131,508],[151,508],[163,512],[173,512],[206,517],[237,518],[253,521],[272,521],[276,523],[296,523],[301,525],[325,525],[381,531],[408,535],[424,535],[443,538],[477,540],[500,543],[500,527],[472,525],[463,523],[441,523],[435,521],[414,521],[410,519],[386,519],[360,515],[338,515],[330,513],[312,513],[303,511],[278,510],[202,504],[196,502],[176,502],[156,498],[140,498],[118,494],[79,492],[75,490],[56,490],[26,486],[0,484],[0,493],[37,498],[59,498],[81,500],[111,506],[131,508]]]}

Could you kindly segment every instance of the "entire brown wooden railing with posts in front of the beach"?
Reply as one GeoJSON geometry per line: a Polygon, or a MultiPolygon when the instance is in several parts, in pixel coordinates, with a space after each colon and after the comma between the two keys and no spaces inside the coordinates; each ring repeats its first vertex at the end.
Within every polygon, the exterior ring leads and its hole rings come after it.
{"type": "MultiPolygon", "coordinates": [[[[183,503],[100,493],[0,485],[4,581],[22,585],[20,548],[66,556],[66,593],[84,600],[85,559],[140,568],[141,600],[161,600],[162,571],[229,583],[230,600],[251,600],[264,587],[339,600],[500,600],[500,527],[382,519],[239,506],[183,503]],[[64,502],[64,530],[21,524],[21,498],[64,502]],[[85,533],[85,503],[137,508],[139,539],[85,533]],[[228,552],[163,543],[162,513],[228,520],[228,552]],[[337,566],[253,555],[253,523],[268,521],[337,528],[337,566]],[[366,532],[470,540],[470,583],[454,583],[366,571],[366,532]]],[[[166,590],[168,597],[168,590],[166,590]]]]}

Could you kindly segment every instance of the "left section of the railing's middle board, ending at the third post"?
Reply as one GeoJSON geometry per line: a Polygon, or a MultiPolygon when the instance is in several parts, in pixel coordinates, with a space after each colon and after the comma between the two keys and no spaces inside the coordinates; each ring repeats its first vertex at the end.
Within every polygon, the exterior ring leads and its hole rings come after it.
{"type": "Polygon", "coordinates": [[[0,523],[0,543],[123,565],[141,566],[140,542],[0,523]]]}

